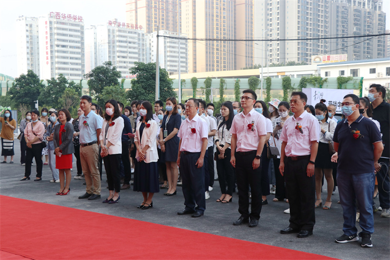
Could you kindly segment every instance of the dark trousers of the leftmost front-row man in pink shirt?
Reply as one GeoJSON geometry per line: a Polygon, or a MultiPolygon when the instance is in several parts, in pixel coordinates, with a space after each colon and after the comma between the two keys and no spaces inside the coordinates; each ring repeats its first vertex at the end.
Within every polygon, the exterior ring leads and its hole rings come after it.
{"type": "Polygon", "coordinates": [[[195,165],[199,159],[200,153],[184,154],[180,156],[180,174],[182,176],[184,205],[187,210],[199,211],[203,213],[206,210],[206,197],[204,194],[204,163],[201,168],[195,165]],[[197,205],[197,206],[196,206],[197,205]]]}

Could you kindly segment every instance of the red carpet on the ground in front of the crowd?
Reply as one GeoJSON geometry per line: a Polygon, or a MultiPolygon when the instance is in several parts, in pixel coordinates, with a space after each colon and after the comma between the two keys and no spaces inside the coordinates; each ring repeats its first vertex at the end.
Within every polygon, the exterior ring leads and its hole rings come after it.
{"type": "Polygon", "coordinates": [[[1,259],[332,259],[6,196],[0,220],[1,259]]]}

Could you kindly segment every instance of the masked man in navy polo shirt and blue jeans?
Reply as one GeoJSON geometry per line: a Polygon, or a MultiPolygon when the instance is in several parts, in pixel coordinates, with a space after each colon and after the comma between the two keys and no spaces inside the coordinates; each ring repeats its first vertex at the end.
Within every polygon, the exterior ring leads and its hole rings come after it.
{"type": "Polygon", "coordinates": [[[349,94],[341,103],[341,112],[347,118],[334,130],[334,149],[338,153],[337,185],[343,208],[344,234],[336,242],[357,241],[356,202],[359,205],[362,247],[372,247],[374,232],[372,197],[375,171],[380,169],[378,160],[383,144],[378,127],[372,120],[359,113],[359,98],[349,94]]]}

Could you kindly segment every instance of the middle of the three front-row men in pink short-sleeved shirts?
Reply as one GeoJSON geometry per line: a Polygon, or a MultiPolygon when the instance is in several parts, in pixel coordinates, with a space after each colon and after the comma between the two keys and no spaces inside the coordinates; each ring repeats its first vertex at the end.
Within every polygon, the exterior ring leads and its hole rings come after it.
{"type": "Polygon", "coordinates": [[[241,107],[230,128],[232,134],[232,163],[235,168],[238,189],[238,212],[241,216],[234,225],[241,225],[251,219],[249,226],[258,225],[261,212],[261,167],[260,158],[266,138],[265,117],[254,111],[257,95],[253,90],[242,92],[241,107]],[[237,148],[237,150],[236,150],[237,148]],[[249,185],[252,205],[249,212],[249,185]]]}

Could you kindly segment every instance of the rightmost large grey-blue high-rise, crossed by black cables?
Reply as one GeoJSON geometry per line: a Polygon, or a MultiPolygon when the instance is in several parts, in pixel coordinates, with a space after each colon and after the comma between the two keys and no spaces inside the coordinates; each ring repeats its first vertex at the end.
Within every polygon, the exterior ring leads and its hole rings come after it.
{"type": "MultiPolygon", "coordinates": [[[[332,36],[385,33],[383,0],[331,0],[329,30],[332,36]]],[[[330,54],[348,54],[348,60],[386,57],[385,37],[337,39],[328,44],[330,54]],[[333,51],[334,50],[334,51],[333,51]]]]}

